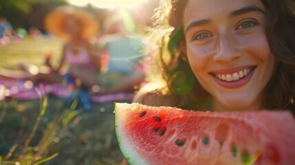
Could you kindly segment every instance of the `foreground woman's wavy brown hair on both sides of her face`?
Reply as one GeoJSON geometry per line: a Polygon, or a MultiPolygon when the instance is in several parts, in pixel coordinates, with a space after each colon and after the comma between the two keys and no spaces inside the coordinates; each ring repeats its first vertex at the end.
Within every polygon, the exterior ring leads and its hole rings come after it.
{"type": "MultiPolygon", "coordinates": [[[[182,28],[183,12],[188,0],[164,0],[157,11],[155,26],[174,29],[160,38],[160,67],[170,94],[190,98],[191,93],[201,90],[187,59],[182,56],[185,45],[182,28]],[[167,13],[167,9],[169,12],[167,13]],[[162,16],[162,17],[159,17],[162,16]],[[168,42],[165,43],[165,36],[168,42]],[[167,51],[164,52],[164,48],[167,51]],[[168,56],[168,57],[167,57],[168,56]]],[[[275,69],[266,87],[263,99],[265,109],[295,109],[295,14],[292,0],[261,0],[265,6],[267,24],[265,33],[270,51],[274,54],[275,69]]],[[[204,90],[204,89],[203,89],[204,90]]],[[[189,100],[189,99],[188,99],[189,100]]],[[[193,99],[191,99],[193,100],[193,99]]],[[[190,102],[187,102],[189,104],[190,102]]]]}

